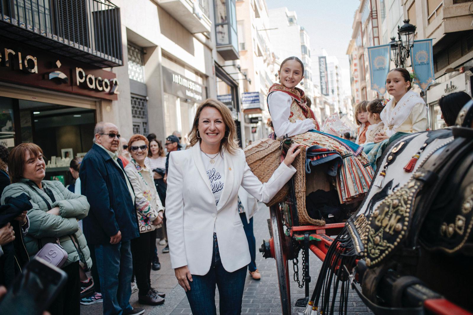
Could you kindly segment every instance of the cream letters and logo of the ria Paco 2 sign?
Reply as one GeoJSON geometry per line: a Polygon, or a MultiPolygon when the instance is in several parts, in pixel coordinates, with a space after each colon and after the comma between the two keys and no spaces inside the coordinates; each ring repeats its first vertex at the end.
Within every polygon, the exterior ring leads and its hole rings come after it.
{"type": "MultiPolygon", "coordinates": [[[[4,67],[10,67],[10,64],[18,62],[18,65],[14,64],[14,67],[18,67],[18,70],[24,70],[25,72],[38,74],[38,62],[36,57],[32,55],[27,55],[23,58],[21,52],[17,53],[12,49],[5,48],[3,56],[0,54],[0,62],[2,62],[1,65],[4,67]]],[[[61,68],[61,62],[59,60],[57,60],[53,65],[55,65],[57,68],[61,68]]],[[[75,67],[73,74],[75,74],[75,82],[78,86],[90,90],[96,90],[98,92],[105,92],[108,94],[120,94],[118,91],[119,82],[116,78],[108,80],[106,78],[103,79],[101,77],[96,77],[91,73],[87,74],[80,67],[75,67]]],[[[52,80],[60,84],[69,83],[68,76],[59,70],[47,73],[45,75],[45,79],[52,80]]]]}

